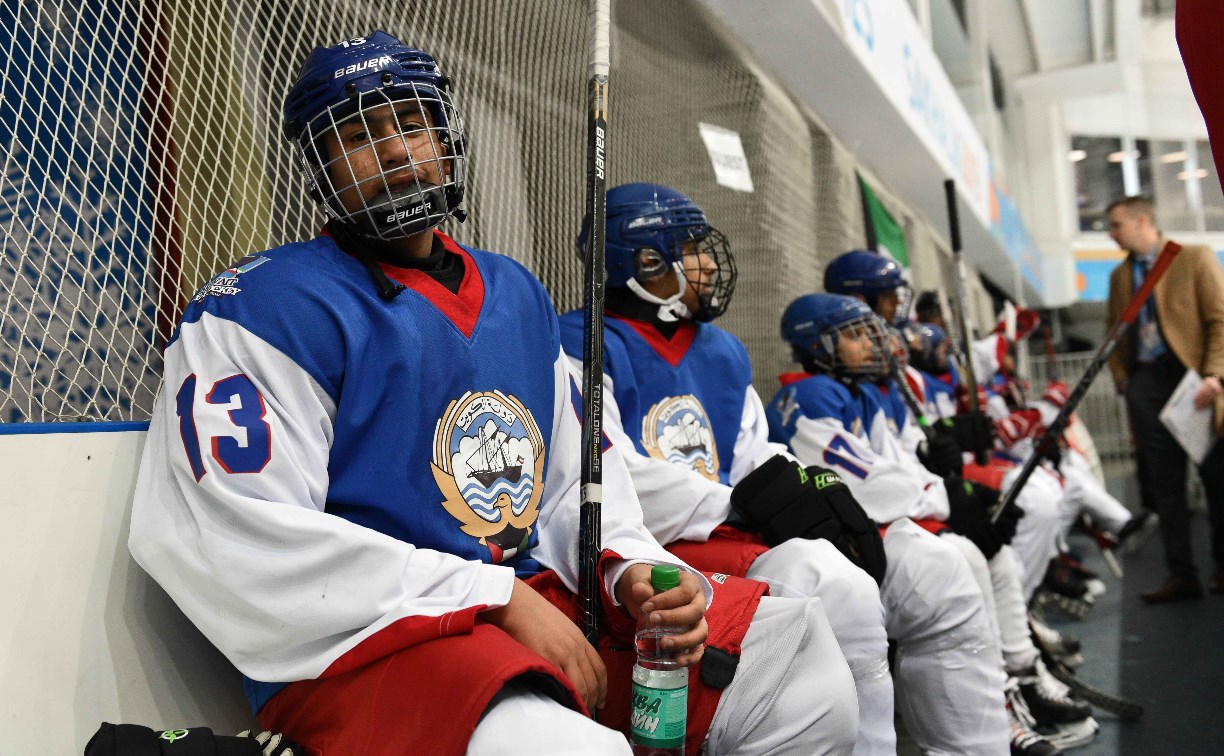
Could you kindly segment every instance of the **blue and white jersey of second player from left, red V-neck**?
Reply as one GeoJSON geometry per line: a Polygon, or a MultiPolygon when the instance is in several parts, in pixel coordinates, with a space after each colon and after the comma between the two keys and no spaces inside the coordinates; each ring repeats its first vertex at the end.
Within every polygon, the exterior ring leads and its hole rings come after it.
{"type": "MultiPolygon", "coordinates": [[[[581,311],[561,317],[561,340],[581,369],[581,311]]],[[[769,443],[748,351],[711,323],[685,321],[667,339],[610,313],[603,361],[603,428],[628,447],[647,527],[662,543],[705,541],[731,514],[730,486],[785,453],[769,443]]]]}

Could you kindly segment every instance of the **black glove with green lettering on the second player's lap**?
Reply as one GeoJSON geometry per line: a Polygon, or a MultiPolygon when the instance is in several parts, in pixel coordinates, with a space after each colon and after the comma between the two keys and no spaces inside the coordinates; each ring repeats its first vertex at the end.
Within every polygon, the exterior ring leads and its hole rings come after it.
{"type": "Polygon", "coordinates": [[[771,547],[791,538],[824,538],[876,585],[884,581],[887,561],[880,528],[831,470],[803,469],[775,455],[739,481],[731,506],[771,547]]]}

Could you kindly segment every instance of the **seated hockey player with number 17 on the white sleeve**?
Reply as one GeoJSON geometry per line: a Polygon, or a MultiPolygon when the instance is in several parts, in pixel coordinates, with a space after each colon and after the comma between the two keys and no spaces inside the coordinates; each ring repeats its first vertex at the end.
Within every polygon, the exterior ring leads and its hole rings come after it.
{"type": "MultiPolygon", "coordinates": [[[[889,349],[883,322],[862,300],[810,294],[787,306],[781,334],[803,371],[780,377],[782,388],[765,410],[770,439],[800,464],[834,469],[886,527],[889,573],[880,596],[889,637],[897,641],[897,708],[906,729],[924,752],[1006,754],[1002,659],[990,606],[976,565],[951,538],[935,535],[958,519],[956,505],[973,502],[901,448],[880,394],[869,390],[889,349]]],[[[984,517],[974,525],[989,527],[984,517]]]]}

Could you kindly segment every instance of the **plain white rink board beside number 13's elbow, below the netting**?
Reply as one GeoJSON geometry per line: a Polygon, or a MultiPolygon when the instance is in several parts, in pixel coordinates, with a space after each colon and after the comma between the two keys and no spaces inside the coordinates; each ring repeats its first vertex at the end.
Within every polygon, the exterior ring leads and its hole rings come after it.
{"type": "Polygon", "coordinates": [[[241,676],[127,553],[144,435],[0,434],[0,754],[81,754],[102,722],[255,725],[241,676]]]}

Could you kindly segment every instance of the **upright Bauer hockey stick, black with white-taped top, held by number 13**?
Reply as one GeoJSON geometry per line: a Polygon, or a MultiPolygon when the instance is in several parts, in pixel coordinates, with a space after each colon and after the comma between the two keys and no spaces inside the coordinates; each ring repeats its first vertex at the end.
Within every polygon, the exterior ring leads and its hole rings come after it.
{"type": "Polygon", "coordinates": [[[578,590],[583,635],[600,643],[600,550],[603,509],[603,235],[607,223],[608,48],[611,0],[591,0],[586,128],[586,265],[583,272],[583,469],[578,590]]]}

